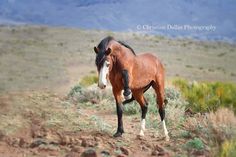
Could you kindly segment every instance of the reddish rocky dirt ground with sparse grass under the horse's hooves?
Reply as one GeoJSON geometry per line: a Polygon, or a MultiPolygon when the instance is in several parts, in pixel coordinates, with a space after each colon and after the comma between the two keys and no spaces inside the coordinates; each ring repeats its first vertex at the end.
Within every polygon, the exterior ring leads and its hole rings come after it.
{"type": "MultiPolygon", "coordinates": [[[[172,135],[175,128],[168,128],[169,142],[160,128],[147,129],[144,137],[138,136],[140,115],[124,115],[125,134],[113,138],[116,114],[112,107],[101,107],[102,103],[78,106],[45,92],[8,94],[0,100],[0,156],[3,157],[76,157],[93,150],[98,156],[188,154],[180,147],[186,140],[172,135]],[[110,130],[101,125],[108,125],[110,130]]],[[[194,153],[201,156],[209,152],[194,153]]]]}

